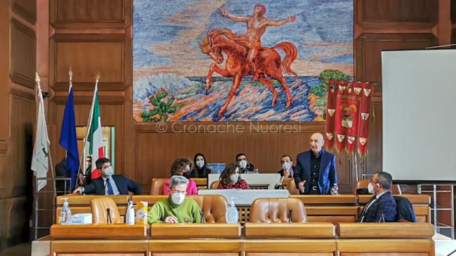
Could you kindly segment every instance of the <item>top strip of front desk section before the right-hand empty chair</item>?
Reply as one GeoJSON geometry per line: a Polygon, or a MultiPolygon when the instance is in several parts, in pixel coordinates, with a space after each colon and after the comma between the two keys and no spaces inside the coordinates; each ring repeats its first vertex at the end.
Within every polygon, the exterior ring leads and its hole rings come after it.
{"type": "Polygon", "coordinates": [[[331,223],[246,223],[246,238],[333,239],[331,223]]]}

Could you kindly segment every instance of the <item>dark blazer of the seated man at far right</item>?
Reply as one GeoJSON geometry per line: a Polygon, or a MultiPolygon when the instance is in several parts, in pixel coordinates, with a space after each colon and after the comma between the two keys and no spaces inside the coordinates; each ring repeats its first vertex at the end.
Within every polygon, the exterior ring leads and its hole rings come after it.
{"type": "MultiPolygon", "coordinates": [[[[373,196],[369,203],[375,199],[373,196]]],[[[368,205],[366,204],[366,206],[368,205]]],[[[368,210],[366,211],[366,207],[364,207],[363,211],[359,215],[358,222],[364,216],[363,222],[382,222],[382,215],[385,222],[395,222],[396,221],[396,201],[394,200],[393,194],[387,191],[382,194],[377,200],[373,202],[371,206],[369,206],[368,210]]]]}

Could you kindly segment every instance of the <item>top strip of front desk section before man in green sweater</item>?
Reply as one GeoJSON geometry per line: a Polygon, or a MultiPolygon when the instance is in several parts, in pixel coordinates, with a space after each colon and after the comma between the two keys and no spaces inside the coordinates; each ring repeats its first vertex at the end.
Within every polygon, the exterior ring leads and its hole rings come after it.
{"type": "Polygon", "coordinates": [[[239,239],[240,224],[154,224],[152,239],[223,238],[239,239]]]}

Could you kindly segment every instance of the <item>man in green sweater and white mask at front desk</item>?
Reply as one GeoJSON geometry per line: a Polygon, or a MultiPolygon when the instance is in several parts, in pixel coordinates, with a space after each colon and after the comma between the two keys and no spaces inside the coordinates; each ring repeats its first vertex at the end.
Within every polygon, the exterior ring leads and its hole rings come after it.
{"type": "Polygon", "coordinates": [[[169,197],[156,201],[147,213],[147,223],[201,223],[201,210],[193,199],[185,198],[189,180],[184,176],[170,178],[169,197]]]}

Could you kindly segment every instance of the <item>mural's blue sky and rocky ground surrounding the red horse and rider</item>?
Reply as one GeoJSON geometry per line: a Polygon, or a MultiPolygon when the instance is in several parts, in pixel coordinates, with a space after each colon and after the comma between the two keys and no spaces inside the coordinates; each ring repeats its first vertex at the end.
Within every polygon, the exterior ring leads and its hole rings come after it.
{"type": "MultiPolygon", "coordinates": [[[[320,85],[319,74],[337,69],[353,76],[353,0],[169,0],[133,1],[133,115],[138,122],[167,121],[321,121],[326,99],[312,87],[320,85]],[[250,76],[243,82],[226,113],[217,116],[232,86],[232,78],[213,74],[213,87],[206,92],[205,80],[213,60],[202,54],[198,43],[212,29],[246,33],[246,24],[220,14],[225,8],[234,15],[252,15],[263,4],[264,17],[295,22],[267,27],[263,47],[289,41],[298,56],[291,69],[297,77],[286,77],[293,105],[286,108],[283,88],[273,80],[279,94],[271,106],[271,92],[250,76]],[[166,92],[156,113],[151,97],[166,92]],[[165,113],[166,112],[166,113],[165,113]],[[145,113],[152,116],[145,118],[145,113]]],[[[283,52],[278,51],[283,58],[283,52]]],[[[226,55],[225,55],[226,56],[226,55]]],[[[224,69],[225,63],[219,66],[224,69]]]]}

